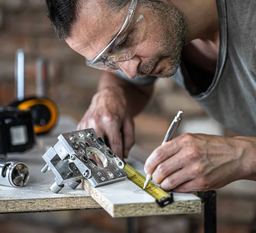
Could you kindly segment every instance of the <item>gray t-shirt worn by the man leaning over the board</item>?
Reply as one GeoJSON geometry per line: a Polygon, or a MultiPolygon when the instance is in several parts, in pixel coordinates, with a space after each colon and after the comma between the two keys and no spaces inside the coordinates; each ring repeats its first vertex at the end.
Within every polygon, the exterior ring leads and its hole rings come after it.
{"type": "MultiPolygon", "coordinates": [[[[192,95],[186,89],[181,68],[172,78],[224,127],[241,136],[256,136],[256,1],[216,3],[220,50],[212,83],[206,91],[192,95]]],[[[124,74],[122,77],[128,79],[124,74]]],[[[130,82],[149,85],[155,79],[136,77],[130,82]]]]}

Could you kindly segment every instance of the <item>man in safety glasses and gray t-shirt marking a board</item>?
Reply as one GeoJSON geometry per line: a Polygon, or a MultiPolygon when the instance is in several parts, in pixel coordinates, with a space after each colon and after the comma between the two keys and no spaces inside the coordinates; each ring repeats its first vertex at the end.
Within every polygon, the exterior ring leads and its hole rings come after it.
{"type": "MultiPolygon", "coordinates": [[[[46,0],[55,33],[105,70],[78,130],[107,136],[121,158],[133,117],[154,81],[172,77],[240,136],[184,134],[156,148],[145,171],[165,190],[256,180],[256,2],[250,0],[46,0]]],[[[172,104],[172,103],[170,103],[172,104]]]]}

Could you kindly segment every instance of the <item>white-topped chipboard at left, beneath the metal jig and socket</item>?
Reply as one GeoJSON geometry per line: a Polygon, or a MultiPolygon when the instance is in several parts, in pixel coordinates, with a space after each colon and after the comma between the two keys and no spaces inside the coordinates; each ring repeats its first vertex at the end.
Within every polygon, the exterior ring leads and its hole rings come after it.
{"type": "Polygon", "coordinates": [[[26,154],[9,156],[9,159],[28,166],[29,182],[24,188],[0,186],[0,213],[101,207],[81,186],[72,190],[66,185],[60,193],[52,193],[49,187],[55,181],[55,175],[52,171],[41,173],[43,154],[39,148],[34,148],[26,154]]]}

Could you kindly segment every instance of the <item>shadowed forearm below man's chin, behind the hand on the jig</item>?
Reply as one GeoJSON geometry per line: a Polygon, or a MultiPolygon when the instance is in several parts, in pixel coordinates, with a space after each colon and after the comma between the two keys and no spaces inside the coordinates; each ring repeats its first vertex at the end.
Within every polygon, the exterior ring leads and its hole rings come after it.
{"type": "Polygon", "coordinates": [[[153,85],[137,87],[107,71],[100,78],[98,91],[106,88],[122,88],[131,117],[143,110],[153,93],[153,85]]]}

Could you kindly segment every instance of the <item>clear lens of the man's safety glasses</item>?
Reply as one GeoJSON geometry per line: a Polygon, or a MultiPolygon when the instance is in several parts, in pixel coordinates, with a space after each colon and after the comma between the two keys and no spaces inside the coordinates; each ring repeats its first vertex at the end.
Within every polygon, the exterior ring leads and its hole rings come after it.
{"type": "Polygon", "coordinates": [[[86,60],[87,65],[102,70],[118,69],[116,62],[126,61],[134,56],[144,29],[145,19],[142,14],[139,14],[96,61],[91,64],[86,60]]]}

